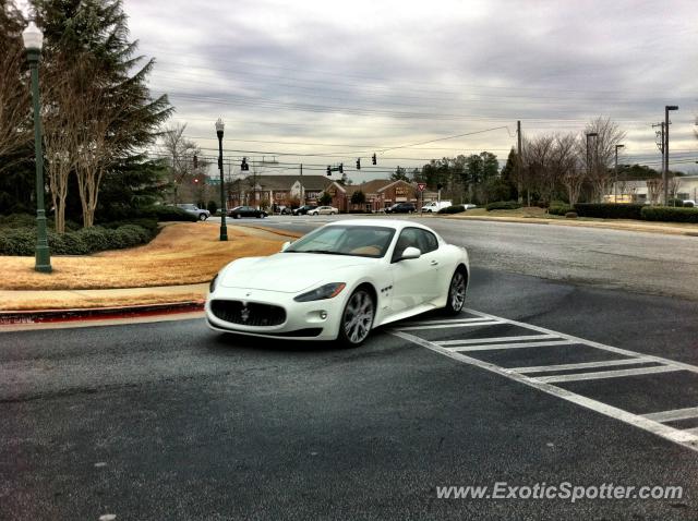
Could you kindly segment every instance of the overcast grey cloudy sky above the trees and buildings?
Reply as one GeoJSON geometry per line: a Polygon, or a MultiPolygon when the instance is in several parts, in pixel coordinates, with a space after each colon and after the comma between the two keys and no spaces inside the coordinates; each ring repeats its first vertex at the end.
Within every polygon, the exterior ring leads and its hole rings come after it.
{"type": "Polygon", "coordinates": [[[627,132],[622,162],[659,168],[651,125],[665,105],[679,106],[672,168],[697,167],[696,0],[125,0],[124,8],[140,51],[157,60],[151,86],[170,96],[171,123],[186,123],[186,135],[214,155],[222,117],[225,154],[278,161],[268,173],[292,173],[301,162],[304,173],[323,173],[344,162],[360,182],[457,154],[490,150],[504,161],[517,120],[534,136],[581,133],[598,116],[627,132]]]}

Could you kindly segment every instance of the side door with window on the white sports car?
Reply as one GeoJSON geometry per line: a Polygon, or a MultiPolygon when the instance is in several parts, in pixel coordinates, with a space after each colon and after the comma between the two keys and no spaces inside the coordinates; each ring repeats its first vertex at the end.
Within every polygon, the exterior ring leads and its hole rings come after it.
{"type": "Polygon", "coordinates": [[[425,239],[421,232],[420,228],[402,229],[390,257],[393,288],[389,290],[393,313],[401,313],[421,305],[436,294],[438,265],[434,264],[433,251],[426,252],[419,258],[399,259],[405,249],[409,246],[422,251],[425,239]]]}

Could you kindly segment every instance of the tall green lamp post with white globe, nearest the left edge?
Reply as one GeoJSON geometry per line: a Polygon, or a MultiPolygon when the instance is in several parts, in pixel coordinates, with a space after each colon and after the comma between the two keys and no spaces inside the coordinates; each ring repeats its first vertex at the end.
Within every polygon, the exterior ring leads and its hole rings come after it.
{"type": "Polygon", "coordinates": [[[44,153],[41,152],[41,116],[39,113],[39,57],[44,35],[29,22],[22,33],[29,69],[32,71],[32,100],[34,106],[34,154],[36,157],[36,264],[34,269],[51,272],[51,254],[46,237],[46,210],[44,209],[44,153]]]}

